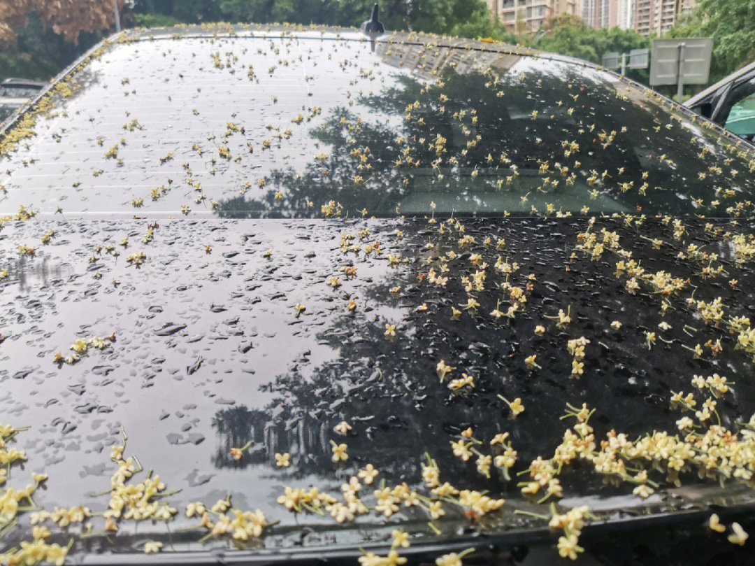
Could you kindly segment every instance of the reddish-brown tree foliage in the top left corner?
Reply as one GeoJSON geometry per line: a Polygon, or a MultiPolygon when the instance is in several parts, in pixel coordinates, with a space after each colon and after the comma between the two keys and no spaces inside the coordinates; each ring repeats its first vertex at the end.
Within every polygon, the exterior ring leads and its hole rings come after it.
{"type": "MultiPolygon", "coordinates": [[[[119,9],[125,0],[117,0],[119,9]]],[[[115,23],[112,0],[0,0],[0,44],[17,39],[16,26],[26,24],[29,14],[38,14],[45,28],[77,44],[79,33],[108,29],[115,23]]]]}

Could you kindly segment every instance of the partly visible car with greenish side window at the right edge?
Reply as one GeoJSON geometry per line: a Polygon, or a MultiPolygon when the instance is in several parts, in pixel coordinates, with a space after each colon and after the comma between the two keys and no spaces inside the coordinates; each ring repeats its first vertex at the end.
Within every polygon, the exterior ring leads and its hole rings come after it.
{"type": "Polygon", "coordinates": [[[715,85],[698,92],[684,105],[749,141],[755,139],[755,61],[715,85]]]}

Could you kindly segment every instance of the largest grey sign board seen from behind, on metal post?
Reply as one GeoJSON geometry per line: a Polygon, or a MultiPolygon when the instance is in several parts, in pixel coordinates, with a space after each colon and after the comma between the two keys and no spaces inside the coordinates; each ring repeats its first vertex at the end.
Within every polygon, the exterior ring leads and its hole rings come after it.
{"type": "Polygon", "coordinates": [[[710,73],[710,37],[653,39],[650,85],[676,85],[676,98],[682,101],[684,85],[704,85],[710,73]]]}

